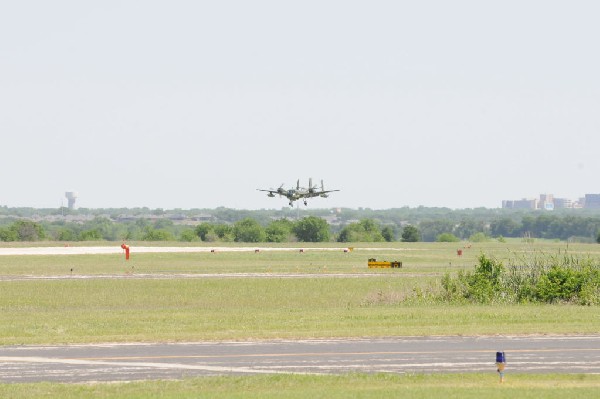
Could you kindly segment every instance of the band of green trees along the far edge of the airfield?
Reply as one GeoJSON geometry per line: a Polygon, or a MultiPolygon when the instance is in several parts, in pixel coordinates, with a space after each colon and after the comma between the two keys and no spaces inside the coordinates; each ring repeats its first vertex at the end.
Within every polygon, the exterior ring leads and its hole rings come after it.
{"type": "MultiPolygon", "coordinates": [[[[32,221],[4,218],[0,241],[205,241],[205,242],[434,242],[484,241],[504,237],[545,238],[600,242],[600,217],[572,214],[503,214],[485,218],[476,213],[424,213],[412,220],[387,219],[385,215],[359,220],[337,220],[310,215],[295,220],[287,217],[254,218],[249,211],[233,221],[178,224],[169,218],[138,218],[117,221],[95,216],[83,222],[32,221]]],[[[370,212],[368,215],[375,216],[370,212]]],[[[239,216],[239,215],[238,215],[239,216]]]]}

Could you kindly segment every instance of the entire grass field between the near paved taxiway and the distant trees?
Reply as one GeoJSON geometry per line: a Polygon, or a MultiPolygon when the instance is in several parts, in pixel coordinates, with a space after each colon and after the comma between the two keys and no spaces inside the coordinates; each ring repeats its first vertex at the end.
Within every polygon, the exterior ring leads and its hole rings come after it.
{"type": "Polygon", "coordinates": [[[0,281],[0,343],[597,333],[600,325],[595,307],[410,300],[415,291],[436,289],[442,272],[472,268],[482,252],[506,261],[565,251],[598,257],[599,245],[395,243],[372,249],[355,244],[350,253],[319,251],[315,244],[302,247],[304,253],[135,254],[133,246],[130,261],[121,255],[0,256],[0,275],[5,277],[66,277],[0,281]],[[462,257],[456,255],[457,246],[462,257]],[[369,257],[401,260],[404,267],[368,269],[369,257]],[[116,278],[72,278],[71,268],[75,276],[116,278]],[[130,278],[140,273],[242,272],[306,277],[130,278]],[[320,277],[332,272],[351,275],[320,277]],[[361,273],[381,277],[354,277],[361,273]]]}

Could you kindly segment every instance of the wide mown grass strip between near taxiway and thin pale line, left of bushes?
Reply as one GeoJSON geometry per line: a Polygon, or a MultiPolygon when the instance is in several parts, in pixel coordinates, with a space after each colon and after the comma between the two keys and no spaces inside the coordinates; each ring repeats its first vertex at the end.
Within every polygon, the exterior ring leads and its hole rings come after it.
{"type": "Polygon", "coordinates": [[[405,301],[423,284],[422,277],[5,281],[0,344],[597,333],[600,325],[595,307],[405,301]]]}

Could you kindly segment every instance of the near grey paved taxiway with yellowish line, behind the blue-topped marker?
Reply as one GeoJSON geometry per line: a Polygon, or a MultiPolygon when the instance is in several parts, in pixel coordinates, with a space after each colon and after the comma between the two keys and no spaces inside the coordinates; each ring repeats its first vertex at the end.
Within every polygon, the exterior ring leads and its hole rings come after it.
{"type": "Polygon", "coordinates": [[[259,373],[600,373],[600,335],[0,347],[0,382],[259,373]]]}

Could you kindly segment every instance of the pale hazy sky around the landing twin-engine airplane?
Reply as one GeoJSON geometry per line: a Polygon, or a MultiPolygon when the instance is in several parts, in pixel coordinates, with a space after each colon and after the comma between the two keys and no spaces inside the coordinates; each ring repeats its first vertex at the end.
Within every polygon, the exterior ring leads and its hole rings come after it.
{"type": "Polygon", "coordinates": [[[0,205],[600,192],[595,1],[0,1],[0,205]]]}

